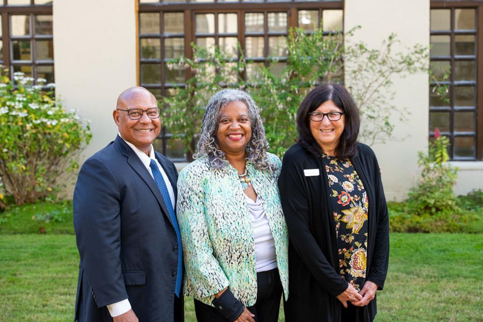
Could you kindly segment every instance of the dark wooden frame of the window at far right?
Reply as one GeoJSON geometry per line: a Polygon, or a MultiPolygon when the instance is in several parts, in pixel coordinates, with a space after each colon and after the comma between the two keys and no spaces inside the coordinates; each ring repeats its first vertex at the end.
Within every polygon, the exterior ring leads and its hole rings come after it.
{"type": "MultiPolygon", "coordinates": [[[[477,22],[476,26],[476,84],[475,84],[475,91],[476,91],[476,127],[475,127],[475,138],[476,138],[476,151],[475,151],[475,158],[470,157],[461,157],[461,158],[453,158],[453,144],[451,146],[451,159],[454,161],[482,161],[483,160],[483,1],[481,0],[464,0],[464,1],[447,1],[447,0],[431,0],[431,9],[451,9],[451,14],[453,17],[455,9],[475,9],[475,21],[477,22]]],[[[451,23],[454,24],[453,19],[451,19],[451,23]]],[[[451,26],[451,35],[455,34],[455,30],[453,26],[451,26]]],[[[437,35],[438,32],[430,31],[430,34],[437,35]]],[[[448,33],[446,33],[448,34],[448,33]]],[[[464,34],[464,33],[463,33],[464,34]]],[[[453,44],[453,42],[451,42],[453,44]]],[[[451,46],[451,67],[452,71],[454,70],[454,46],[451,46]]],[[[431,59],[432,60],[432,59],[431,59]]],[[[451,75],[451,79],[449,82],[450,86],[453,87],[453,73],[451,75]]],[[[453,90],[450,91],[452,93],[453,90]]],[[[450,106],[454,106],[453,104],[453,96],[450,95],[450,106]]],[[[431,110],[431,109],[430,109],[431,110]]],[[[453,117],[454,117],[454,108],[451,108],[450,111],[450,132],[451,137],[453,138],[453,117]]],[[[429,133],[429,136],[432,137],[432,133],[429,133]]],[[[452,140],[453,142],[453,140],[452,140]]]]}

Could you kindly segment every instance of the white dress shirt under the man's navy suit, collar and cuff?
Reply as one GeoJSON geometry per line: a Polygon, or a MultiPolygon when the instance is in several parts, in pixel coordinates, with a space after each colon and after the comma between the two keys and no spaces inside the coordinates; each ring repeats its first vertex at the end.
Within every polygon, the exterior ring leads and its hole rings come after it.
{"type": "MultiPolygon", "coordinates": [[[[121,139],[123,139],[120,133],[119,133],[119,136],[121,137],[121,139]]],[[[128,146],[130,146],[133,149],[133,151],[139,157],[142,164],[146,167],[146,169],[148,170],[149,174],[153,177],[153,179],[154,179],[153,171],[151,170],[151,167],[149,165],[151,164],[151,160],[154,160],[156,162],[156,165],[158,166],[158,169],[161,172],[162,178],[164,179],[164,183],[166,183],[166,188],[168,189],[168,193],[169,193],[169,199],[171,199],[171,205],[173,206],[173,209],[175,209],[173,186],[171,185],[171,182],[169,181],[168,176],[162,169],[161,164],[156,159],[153,146],[151,145],[149,156],[147,156],[146,153],[144,153],[139,148],[134,146],[134,144],[127,142],[126,140],[124,140],[124,142],[126,142],[128,146]]],[[[126,298],[116,303],[107,304],[107,310],[109,310],[109,314],[111,317],[117,317],[118,315],[121,315],[131,310],[131,303],[129,303],[129,299],[126,298]]]]}

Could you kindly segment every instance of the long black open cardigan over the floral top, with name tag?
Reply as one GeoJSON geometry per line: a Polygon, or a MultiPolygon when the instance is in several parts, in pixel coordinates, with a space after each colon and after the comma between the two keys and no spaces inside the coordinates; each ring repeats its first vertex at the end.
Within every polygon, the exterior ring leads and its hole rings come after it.
{"type": "MultiPolygon", "coordinates": [[[[389,259],[389,219],[379,165],[373,150],[358,143],[350,159],[369,200],[366,281],[384,286],[389,259]]],[[[338,273],[339,256],[327,176],[321,158],[298,143],[283,157],[278,179],[289,229],[289,299],[286,321],[340,322],[342,303],[336,298],[348,283],[338,273]],[[319,169],[305,176],[304,169],[319,169]]],[[[376,298],[363,310],[363,321],[376,316],[376,298]]]]}

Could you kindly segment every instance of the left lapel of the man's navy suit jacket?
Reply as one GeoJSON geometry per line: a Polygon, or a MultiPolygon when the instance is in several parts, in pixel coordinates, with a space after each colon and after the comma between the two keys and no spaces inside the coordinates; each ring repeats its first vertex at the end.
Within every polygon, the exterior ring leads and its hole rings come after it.
{"type": "Polygon", "coordinates": [[[149,174],[149,171],[146,169],[144,164],[142,164],[141,160],[133,151],[133,149],[130,146],[128,146],[121,137],[117,136],[115,143],[117,144],[117,146],[119,146],[121,153],[127,157],[127,162],[131,166],[131,168],[133,168],[133,170],[137,173],[138,176],[141,177],[144,183],[148,185],[151,192],[153,192],[164,214],[168,218],[171,225],[173,225],[173,223],[171,222],[171,218],[169,217],[169,212],[168,212],[168,209],[166,208],[166,204],[164,204],[164,199],[162,198],[161,191],[158,188],[156,181],[154,181],[153,177],[149,174]]]}

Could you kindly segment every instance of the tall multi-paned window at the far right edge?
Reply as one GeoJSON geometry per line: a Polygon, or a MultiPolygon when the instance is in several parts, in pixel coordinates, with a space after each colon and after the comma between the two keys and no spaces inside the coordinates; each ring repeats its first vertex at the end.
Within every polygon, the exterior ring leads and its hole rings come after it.
{"type": "Polygon", "coordinates": [[[441,99],[430,85],[429,136],[450,138],[452,160],[482,160],[483,3],[449,2],[431,2],[430,68],[449,90],[441,99]]]}

